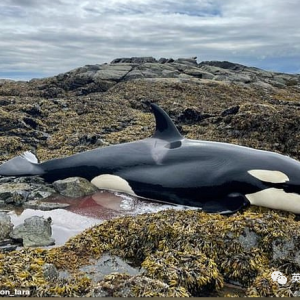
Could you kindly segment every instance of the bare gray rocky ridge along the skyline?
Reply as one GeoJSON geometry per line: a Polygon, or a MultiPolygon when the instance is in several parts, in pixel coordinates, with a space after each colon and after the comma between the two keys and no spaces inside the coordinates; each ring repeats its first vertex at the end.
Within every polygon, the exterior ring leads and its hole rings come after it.
{"type": "MultiPolygon", "coordinates": [[[[86,65],[44,79],[32,79],[21,86],[29,95],[46,98],[63,97],[67,93],[87,95],[105,92],[119,82],[137,79],[208,80],[252,85],[262,88],[300,87],[300,75],[264,71],[228,61],[203,61],[197,58],[131,57],[117,58],[109,64],[86,65]]],[[[0,95],[18,95],[20,82],[0,81],[0,95]],[[2,88],[6,85],[6,88],[2,88]]]]}

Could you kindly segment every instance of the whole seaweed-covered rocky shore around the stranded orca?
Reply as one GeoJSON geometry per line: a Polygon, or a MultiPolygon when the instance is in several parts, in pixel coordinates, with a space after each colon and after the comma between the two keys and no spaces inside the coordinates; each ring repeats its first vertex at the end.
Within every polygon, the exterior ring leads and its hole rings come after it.
{"type": "MultiPolygon", "coordinates": [[[[1,80],[0,162],[27,150],[46,160],[148,137],[149,102],[186,137],[300,159],[300,75],[135,57],[29,82],[1,80]]],[[[13,228],[6,213],[64,208],[43,200],[96,191],[82,178],[0,178],[0,285],[32,296],[297,296],[300,225],[293,214],[168,210],[106,221],[64,246],[40,249],[55,242],[51,220],[33,216],[13,228]],[[287,283],[273,281],[274,271],[287,283]]]]}

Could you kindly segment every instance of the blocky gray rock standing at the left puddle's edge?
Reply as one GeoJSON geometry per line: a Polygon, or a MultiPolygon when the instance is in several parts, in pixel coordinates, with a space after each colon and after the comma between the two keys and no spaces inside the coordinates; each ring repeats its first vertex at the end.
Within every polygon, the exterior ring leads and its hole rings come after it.
{"type": "Polygon", "coordinates": [[[51,235],[51,218],[38,216],[25,219],[24,223],[16,226],[10,234],[12,239],[22,241],[25,247],[54,245],[55,241],[51,235]]]}

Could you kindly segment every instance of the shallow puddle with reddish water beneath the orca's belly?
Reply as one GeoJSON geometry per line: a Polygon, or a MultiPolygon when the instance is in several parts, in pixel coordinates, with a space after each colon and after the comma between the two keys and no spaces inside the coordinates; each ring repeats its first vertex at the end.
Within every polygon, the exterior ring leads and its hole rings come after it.
{"type": "Polygon", "coordinates": [[[183,209],[162,203],[149,202],[122,193],[98,191],[91,196],[81,198],[53,197],[47,203],[68,203],[65,209],[43,211],[38,209],[24,209],[10,211],[12,223],[16,226],[32,216],[51,217],[52,237],[55,246],[63,245],[70,237],[83,230],[121,216],[134,216],[142,213],[158,212],[165,209],[183,209]]]}

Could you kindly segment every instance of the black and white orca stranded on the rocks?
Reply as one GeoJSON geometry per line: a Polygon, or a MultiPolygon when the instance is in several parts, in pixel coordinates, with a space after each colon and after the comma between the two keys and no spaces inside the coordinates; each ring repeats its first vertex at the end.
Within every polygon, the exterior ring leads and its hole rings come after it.
{"type": "Polygon", "coordinates": [[[168,114],[151,104],[152,137],[42,163],[30,152],[0,166],[2,176],[72,176],[98,188],[233,213],[250,204],[300,213],[300,163],[274,152],[184,138],[168,114]]]}

